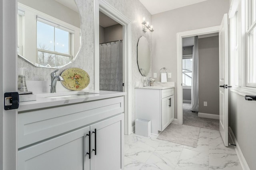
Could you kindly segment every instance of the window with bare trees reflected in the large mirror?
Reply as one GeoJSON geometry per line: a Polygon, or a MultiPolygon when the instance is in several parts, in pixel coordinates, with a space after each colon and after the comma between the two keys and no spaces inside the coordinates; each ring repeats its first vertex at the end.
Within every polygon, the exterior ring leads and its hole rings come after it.
{"type": "Polygon", "coordinates": [[[38,64],[62,66],[72,59],[72,31],[50,21],[37,18],[38,64]]]}

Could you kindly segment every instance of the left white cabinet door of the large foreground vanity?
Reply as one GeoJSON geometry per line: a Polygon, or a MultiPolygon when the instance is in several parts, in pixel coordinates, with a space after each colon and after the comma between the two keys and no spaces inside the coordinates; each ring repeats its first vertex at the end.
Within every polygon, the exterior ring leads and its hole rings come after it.
{"type": "Polygon", "coordinates": [[[90,170],[90,127],[18,151],[18,170],[90,170]]]}

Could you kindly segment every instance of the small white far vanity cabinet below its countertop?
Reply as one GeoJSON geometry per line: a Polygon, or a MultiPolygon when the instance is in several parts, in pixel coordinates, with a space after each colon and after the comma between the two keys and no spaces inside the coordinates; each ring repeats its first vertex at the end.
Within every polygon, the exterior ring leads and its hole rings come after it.
{"type": "Polygon", "coordinates": [[[174,119],[174,88],[136,88],[136,119],[150,120],[152,134],[163,131],[174,119]]]}

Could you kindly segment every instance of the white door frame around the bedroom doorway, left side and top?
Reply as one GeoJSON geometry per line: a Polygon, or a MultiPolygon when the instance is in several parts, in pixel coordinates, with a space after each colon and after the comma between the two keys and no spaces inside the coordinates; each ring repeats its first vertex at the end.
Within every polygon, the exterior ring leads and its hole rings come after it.
{"type": "Polygon", "coordinates": [[[196,29],[177,33],[177,122],[183,124],[183,109],[182,109],[182,38],[194,37],[197,35],[205,35],[218,33],[220,26],[196,29]]]}

